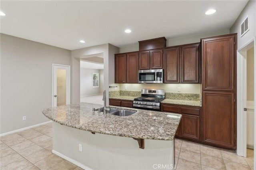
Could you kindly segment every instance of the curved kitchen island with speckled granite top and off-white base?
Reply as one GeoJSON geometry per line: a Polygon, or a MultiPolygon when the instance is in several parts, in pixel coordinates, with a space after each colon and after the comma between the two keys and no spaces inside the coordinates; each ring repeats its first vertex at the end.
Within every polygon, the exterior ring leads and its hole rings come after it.
{"type": "Polygon", "coordinates": [[[92,112],[100,107],[79,103],[43,109],[53,121],[52,152],[84,169],[174,168],[181,115],[122,107],[112,108],[136,113],[121,117],[92,112]]]}

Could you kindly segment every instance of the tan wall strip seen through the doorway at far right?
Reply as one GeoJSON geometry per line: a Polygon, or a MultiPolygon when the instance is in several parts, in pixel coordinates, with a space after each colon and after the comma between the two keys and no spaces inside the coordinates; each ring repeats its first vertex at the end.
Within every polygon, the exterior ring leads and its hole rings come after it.
{"type": "Polygon", "coordinates": [[[254,48],[247,51],[247,100],[254,101],[254,48]]]}

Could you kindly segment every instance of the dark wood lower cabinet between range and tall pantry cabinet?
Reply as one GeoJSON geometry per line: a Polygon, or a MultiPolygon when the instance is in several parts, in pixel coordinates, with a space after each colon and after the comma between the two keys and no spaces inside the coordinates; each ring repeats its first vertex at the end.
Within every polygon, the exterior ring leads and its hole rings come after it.
{"type": "Polygon", "coordinates": [[[161,104],[161,111],[182,114],[176,137],[201,141],[201,107],[161,104]]]}

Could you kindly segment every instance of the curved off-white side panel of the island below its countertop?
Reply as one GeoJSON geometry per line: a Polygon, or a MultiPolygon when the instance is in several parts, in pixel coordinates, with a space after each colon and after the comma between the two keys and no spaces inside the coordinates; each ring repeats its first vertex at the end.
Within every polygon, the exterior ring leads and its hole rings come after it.
{"type": "Polygon", "coordinates": [[[52,127],[53,152],[75,160],[75,164],[79,162],[81,168],[150,170],[159,164],[168,169],[174,167],[174,140],[145,139],[145,148],[140,149],[133,138],[92,134],[56,122],[52,122],[52,127]]]}

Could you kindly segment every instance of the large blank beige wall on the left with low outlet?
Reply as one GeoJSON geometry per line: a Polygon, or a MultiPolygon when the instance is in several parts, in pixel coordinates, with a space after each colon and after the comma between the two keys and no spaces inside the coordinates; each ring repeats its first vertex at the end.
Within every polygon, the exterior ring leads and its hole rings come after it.
{"type": "Polygon", "coordinates": [[[70,50],[0,36],[0,133],[50,121],[41,110],[52,107],[52,63],[71,65],[70,50]]]}

